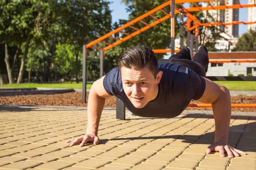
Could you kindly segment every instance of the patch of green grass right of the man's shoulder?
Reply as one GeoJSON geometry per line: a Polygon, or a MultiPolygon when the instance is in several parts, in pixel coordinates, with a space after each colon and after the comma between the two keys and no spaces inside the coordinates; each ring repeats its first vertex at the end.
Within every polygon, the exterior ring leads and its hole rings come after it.
{"type": "Polygon", "coordinates": [[[256,91],[256,81],[214,81],[230,91],[256,91]]]}

